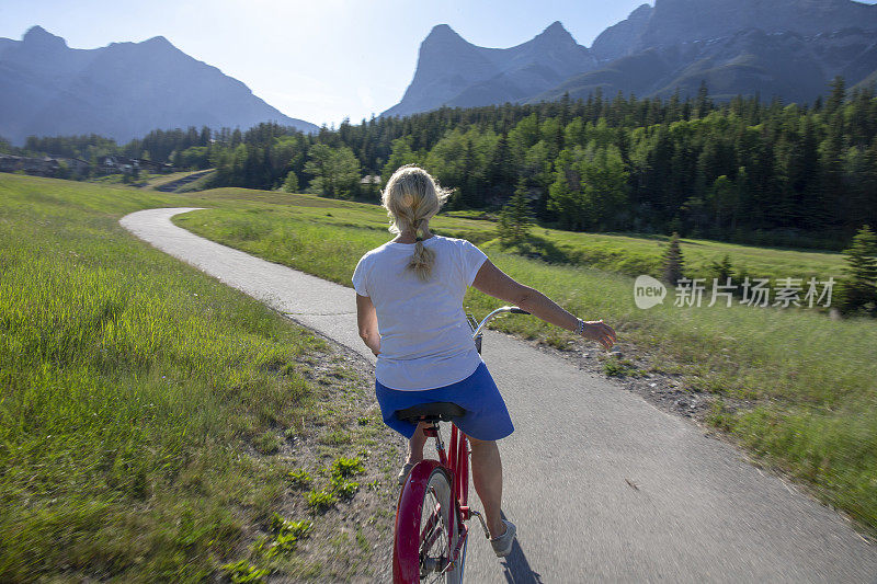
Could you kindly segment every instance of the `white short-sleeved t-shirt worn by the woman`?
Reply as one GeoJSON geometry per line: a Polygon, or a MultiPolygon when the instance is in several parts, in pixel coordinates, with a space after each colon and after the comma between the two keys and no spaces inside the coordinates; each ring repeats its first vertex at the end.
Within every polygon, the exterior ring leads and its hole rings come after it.
{"type": "Polygon", "coordinates": [[[362,256],[353,272],[356,294],[377,311],[380,353],[375,377],[399,390],[456,383],[482,363],[463,311],[463,296],[487,255],[465,239],[433,234],[432,277],[422,282],[406,266],[414,243],[387,242],[362,256]]]}

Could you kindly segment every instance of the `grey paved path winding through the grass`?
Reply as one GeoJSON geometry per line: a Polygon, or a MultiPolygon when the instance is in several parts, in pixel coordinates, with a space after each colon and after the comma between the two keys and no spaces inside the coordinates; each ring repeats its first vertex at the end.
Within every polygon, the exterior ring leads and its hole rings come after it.
{"type": "MultiPolygon", "coordinates": [[[[121,222],[374,363],[356,334],[352,289],[170,222],[187,210],[121,222]]],[[[877,584],[876,546],[690,422],[503,334],[487,332],[483,357],[516,427],[501,449],[504,511],[520,538],[499,561],[472,525],[469,582],[877,584]]]]}

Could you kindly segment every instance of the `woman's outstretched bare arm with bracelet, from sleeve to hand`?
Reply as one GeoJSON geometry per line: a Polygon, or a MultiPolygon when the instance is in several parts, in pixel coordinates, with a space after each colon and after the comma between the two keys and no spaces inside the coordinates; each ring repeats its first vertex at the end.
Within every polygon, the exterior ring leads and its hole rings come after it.
{"type": "MultiPolygon", "coordinates": [[[[512,302],[534,317],[561,329],[574,332],[579,327],[579,319],[573,314],[539,290],[515,282],[490,260],[485,260],[481,264],[472,286],[489,296],[512,302]]],[[[615,331],[602,320],[585,321],[582,336],[599,342],[606,351],[612,348],[616,341],[615,331]]]]}

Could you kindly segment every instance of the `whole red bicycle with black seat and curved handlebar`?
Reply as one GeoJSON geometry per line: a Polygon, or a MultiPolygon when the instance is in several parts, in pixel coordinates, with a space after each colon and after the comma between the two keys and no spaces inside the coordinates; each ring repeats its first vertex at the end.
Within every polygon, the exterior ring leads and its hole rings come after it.
{"type": "MultiPolygon", "coordinates": [[[[491,319],[503,312],[529,314],[517,307],[498,308],[480,323],[467,314],[472,340],[481,353],[481,331],[491,319]]],[[[451,448],[446,453],[440,422],[449,422],[466,411],[456,403],[424,403],[396,412],[400,420],[426,422],[424,433],[435,439],[438,460],[418,462],[405,481],[396,508],[396,531],[392,548],[392,581],[398,584],[463,581],[469,529],[466,525],[478,517],[490,533],[480,513],[468,505],[469,440],[451,425],[451,448]]]]}

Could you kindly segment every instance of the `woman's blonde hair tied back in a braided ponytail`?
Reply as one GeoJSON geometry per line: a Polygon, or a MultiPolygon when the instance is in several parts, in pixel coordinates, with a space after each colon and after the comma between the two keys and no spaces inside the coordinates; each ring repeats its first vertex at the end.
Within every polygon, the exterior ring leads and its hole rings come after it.
{"type": "MultiPolygon", "coordinates": [[[[425,170],[413,164],[399,167],[380,193],[380,203],[390,218],[390,233],[413,231],[417,237],[442,208],[448,191],[445,191],[425,170]]],[[[426,249],[422,241],[414,244],[414,254],[407,268],[412,270],[422,282],[430,279],[435,252],[426,249]]]]}

